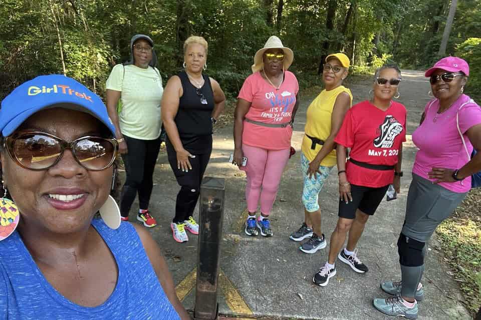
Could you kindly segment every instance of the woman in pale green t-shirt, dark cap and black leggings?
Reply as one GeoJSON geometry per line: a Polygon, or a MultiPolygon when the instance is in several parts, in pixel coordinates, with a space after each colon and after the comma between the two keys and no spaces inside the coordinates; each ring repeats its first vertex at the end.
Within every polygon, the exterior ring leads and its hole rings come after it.
{"type": "Polygon", "coordinates": [[[147,227],[156,224],[148,211],[152,175],[160,149],[163,87],[152,39],[136,34],[130,41],[130,61],[117,64],[107,79],[107,110],[115,125],[126,180],[122,187],[120,212],[127,221],[130,207],[139,194],[137,220],[147,227]],[[121,100],[122,110],[117,104],[121,100]]]}

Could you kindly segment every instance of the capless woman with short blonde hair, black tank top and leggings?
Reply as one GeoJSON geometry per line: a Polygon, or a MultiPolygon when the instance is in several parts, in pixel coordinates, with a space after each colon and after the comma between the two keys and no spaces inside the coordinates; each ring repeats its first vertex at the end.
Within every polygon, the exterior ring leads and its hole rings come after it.
{"type": "Polygon", "coordinates": [[[180,185],[170,224],[177,242],[188,240],[185,230],[198,234],[199,227],[192,215],[212,151],[212,125],[225,105],[219,83],[202,74],[206,58],[207,41],[200,36],[187,38],[184,70],[169,79],[161,103],[167,155],[180,185]]]}

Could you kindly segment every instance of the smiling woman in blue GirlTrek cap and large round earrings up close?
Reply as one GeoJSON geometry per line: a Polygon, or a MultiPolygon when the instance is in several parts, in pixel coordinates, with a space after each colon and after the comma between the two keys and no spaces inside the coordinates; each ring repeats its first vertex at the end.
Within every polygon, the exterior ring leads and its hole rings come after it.
{"type": "Polygon", "coordinates": [[[36,77],[2,101],[0,131],[0,319],[189,318],[151,235],[120,222],[97,95],[36,77]]]}

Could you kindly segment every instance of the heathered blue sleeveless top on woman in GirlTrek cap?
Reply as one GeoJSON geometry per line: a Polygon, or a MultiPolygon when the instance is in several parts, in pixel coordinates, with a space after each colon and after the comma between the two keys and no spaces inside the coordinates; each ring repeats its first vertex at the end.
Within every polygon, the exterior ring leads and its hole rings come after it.
{"type": "Polygon", "coordinates": [[[65,298],[44,277],[15,231],[0,241],[0,320],[180,320],[133,225],[122,222],[112,230],[101,219],[94,219],[92,225],[109,246],[119,269],[111,296],[95,307],[65,298]]]}

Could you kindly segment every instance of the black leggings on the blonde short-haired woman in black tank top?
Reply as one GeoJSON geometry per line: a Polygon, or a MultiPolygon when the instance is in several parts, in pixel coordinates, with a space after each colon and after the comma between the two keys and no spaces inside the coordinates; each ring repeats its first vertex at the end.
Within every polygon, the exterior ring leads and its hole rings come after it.
{"type": "Polygon", "coordinates": [[[175,152],[168,139],[166,146],[170,167],[175,174],[177,183],[180,185],[180,191],[177,193],[177,201],[175,202],[175,216],[172,221],[180,223],[193,215],[200,194],[200,183],[210,159],[210,152],[212,152],[212,144],[208,146],[205,153],[192,153],[195,158],[189,158],[192,169],[188,172],[183,172],[177,168],[177,152],[175,152]]]}

